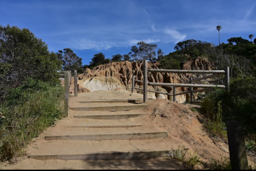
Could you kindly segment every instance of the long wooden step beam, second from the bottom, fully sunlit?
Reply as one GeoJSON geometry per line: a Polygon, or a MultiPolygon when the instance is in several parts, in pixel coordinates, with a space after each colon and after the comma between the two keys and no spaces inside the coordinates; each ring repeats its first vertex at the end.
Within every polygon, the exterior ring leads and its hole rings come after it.
{"type": "Polygon", "coordinates": [[[83,141],[104,141],[104,140],[147,140],[167,138],[168,132],[147,132],[147,133],[118,133],[98,135],[65,135],[46,136],[45,140],[83,140],[83,141]]]}

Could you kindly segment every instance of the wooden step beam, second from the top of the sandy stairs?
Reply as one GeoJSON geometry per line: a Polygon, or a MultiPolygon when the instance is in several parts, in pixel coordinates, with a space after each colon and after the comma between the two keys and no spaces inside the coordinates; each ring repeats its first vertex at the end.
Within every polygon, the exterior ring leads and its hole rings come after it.
{"type": "Polygon", "coordinates": [[[129,111],[142,109],[147,105],[120,105],[120,106],[97,106],[97,107],[70,107],[74,111],[129,111]]]}

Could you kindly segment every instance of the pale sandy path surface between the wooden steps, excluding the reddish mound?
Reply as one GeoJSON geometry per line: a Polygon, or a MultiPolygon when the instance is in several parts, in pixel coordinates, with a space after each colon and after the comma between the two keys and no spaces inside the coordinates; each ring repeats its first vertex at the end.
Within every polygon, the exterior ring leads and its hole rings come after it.
{"type": "MultiPolygon", "coordinates": [[[[79,97],[70,98],[70,107],[95,107],[95,106],[123,106],[136,105],[132,103],[79,103],[79,101],[98,101],[116,99],[142,99],[141,94],[131,94],[126,90],[118,89],[109,92],[96,91],[83,93],[79,97]]],[[[138,104],[140,105],[140,104],[138,104]]],[[[108,140],[108,141],[46,141],[45,136],[59,135],[106,135],[106,134],[128,134],[164,132],[165,129],[150,123],[147,118],[152,114],[151,110],[138,109],[131,111],[73,111],[69,110],[69,116],[58,121],[53,127],[49,127],[38,138],[26,147],[27,155],[76,155],[88,153],[110,153],[110,152],[140,152],[161,151],[172,149],[173,146],[167,139],[151,140],[108,140]],[[128,115],[146,114],[142,117],[128,119],[76,119],[74,116],[86,115],[128,115]],[[88,126],[127,126],[122,128],[86,128],[88,126]],[[128,127],[129,125],[140,125],[139,127],[128,127]]],[[[1,167],[1,166],[0,166],[1,167]]],[[[35,160],[24,156],[15,165],[5,163],[1,169],[186,169],[184,164],[175,159],[158,158],[154,160],[121,160],[121,161],[80,161],[80,160],[35,160]]]]}

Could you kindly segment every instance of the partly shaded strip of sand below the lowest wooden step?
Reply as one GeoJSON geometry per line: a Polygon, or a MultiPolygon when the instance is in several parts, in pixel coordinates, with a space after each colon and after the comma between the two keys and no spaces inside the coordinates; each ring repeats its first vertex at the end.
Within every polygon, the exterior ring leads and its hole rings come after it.
{"type": "Polygon", "coordinates": [[[51,160],[51,161],[40,161],[34,159],[23,159],[20,163],[15,165],[4,164],[1,169],[54,169],[54,170],[92,170],[92,169],[104,169],[104,170],[186,170],[184,164],[181,162],[170,159],[160,158],[154,160],[120,160],[120,161],[80,161],[80,160],[51,160]]]}

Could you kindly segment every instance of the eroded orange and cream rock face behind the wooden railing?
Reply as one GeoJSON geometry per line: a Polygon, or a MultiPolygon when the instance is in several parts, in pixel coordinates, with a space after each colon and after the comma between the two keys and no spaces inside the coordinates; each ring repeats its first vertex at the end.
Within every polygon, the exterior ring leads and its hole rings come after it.
{"type": "MultiPolygon", "coordinates": [[[[159,69],[158,62],[148,62],[148,68],[159,69]]],[[[183,70],[211,70],[211,64],[204,58],[197,58],[189,61],[183,65],[183,70]]],[[[83,87],[90,91],[111,90],[116,88],[123,88],[128,91],[132,89],[132,76],[135,75],[136,80],[143,81],[143,62],[112,62],[93,68],[86,69],[84,74],[80,74],[78,79],[84,85],[83,87]]],[[[156,83],[184,83],[189,80],[206,76],[206,74],[176,74],[176,73],[148,73],[148,82],[156,83]]],[[[200,83],[197,83],[200,84],[200,83]]],[[[204,84],[208,82],[204,81],[204,84]]],[[[135,82],[135,87],[143,88],[142,83],[135,82]]],[[[173,93],[170,87],[148,86],[148,89],[161,91],[165,93],[173,93]]],[[[135,90],[137,93],[142,93],[140,90],[135,90]]],[[[176,88],[176,93],[187,91],[186,87],[176,88]]],[[[172,96],[163,95],[160,93],[148,92],[148,98],[156,99],[172,99],[172,96]]],[[[188,95],[176,96],[178,103],[184,103],[188,99],[188,95]]],[[[196,98],[196,96],[194,97],[196,98]]]]}

